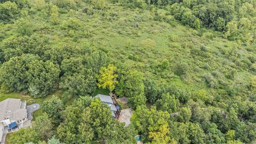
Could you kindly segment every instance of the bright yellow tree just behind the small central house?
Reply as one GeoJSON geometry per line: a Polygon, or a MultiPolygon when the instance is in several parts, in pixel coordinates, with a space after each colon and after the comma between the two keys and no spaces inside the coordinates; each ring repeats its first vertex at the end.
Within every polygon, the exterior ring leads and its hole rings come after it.
{"type": "Polygon", "coordinates": [[[115,89],[117,81],[117,74],[115,73],[116,67],[114,65],[108,65],[108,67],[102,67],[100,69],[100,74],[97,76],[98,78],[98,86],[103,89],[109,89],[110,93],[115,89]]]}

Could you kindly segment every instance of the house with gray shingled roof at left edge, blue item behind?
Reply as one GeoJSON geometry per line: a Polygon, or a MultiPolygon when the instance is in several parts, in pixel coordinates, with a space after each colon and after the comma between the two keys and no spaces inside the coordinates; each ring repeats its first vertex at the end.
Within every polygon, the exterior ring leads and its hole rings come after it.
{"type": "Polygon", "coordinates": [[[27,121],[27,102],[20,99],[5,99],[0,102],[0,142],[4,133],[20,129],[27,121]],[[6,130],[5,132],[4,130],[6,130]]]}

